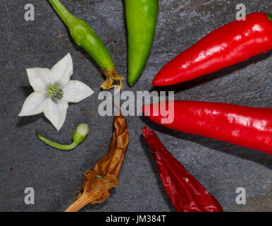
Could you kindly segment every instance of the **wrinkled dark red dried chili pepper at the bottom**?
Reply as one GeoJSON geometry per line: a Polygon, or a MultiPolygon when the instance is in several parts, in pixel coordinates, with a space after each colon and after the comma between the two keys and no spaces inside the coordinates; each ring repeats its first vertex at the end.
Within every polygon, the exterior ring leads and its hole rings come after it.
{"type": "Polygon", "coordinates": [[[164,148],[154,131],[142,127],[152,149],[161,182],[178,212],[223,212],[220,203],[164,148]]]}

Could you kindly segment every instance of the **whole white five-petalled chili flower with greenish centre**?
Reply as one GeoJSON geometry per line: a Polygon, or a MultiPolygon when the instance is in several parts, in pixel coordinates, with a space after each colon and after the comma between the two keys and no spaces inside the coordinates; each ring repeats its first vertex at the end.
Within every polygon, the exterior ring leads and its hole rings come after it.
{"type": "Polygon", "coordinates": [[[80,102],[94,91],[80,81],[70,81],[73,74],[73,60],[68,53],[53,68],[27,69],[28,80],[34,93],[23,104],[19,116],[44,112],[57,130],[61,129],[68,109],[68,102],[80,102]]]}

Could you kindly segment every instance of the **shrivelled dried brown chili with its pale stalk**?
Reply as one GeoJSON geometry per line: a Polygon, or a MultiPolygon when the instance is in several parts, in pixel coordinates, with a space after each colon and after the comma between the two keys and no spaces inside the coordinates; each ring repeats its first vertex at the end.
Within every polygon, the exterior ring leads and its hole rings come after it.
{"type": "Polygon", "coordinates": [[[66,212],[76,212],[88,203],[103,203],[111,188],[118,184],[118,175],[128,148],[128,128],[122,114],[114,117],[114,131],[109,151],[93,169],[84,174],[82,186],[78,189],[76,201],[66,212]]]}

